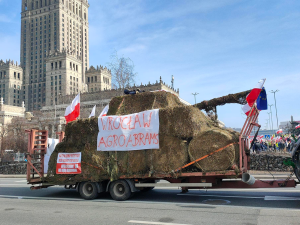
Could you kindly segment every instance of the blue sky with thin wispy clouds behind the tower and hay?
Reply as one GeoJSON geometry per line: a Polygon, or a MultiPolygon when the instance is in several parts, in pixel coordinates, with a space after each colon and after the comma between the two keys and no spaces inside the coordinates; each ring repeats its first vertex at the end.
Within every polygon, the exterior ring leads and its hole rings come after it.
{"type": "MultiPolygon", "coordinates": [[[[162,80],[196,102],[265,88],[277,129],[300,120],[299,0],[89,0],[90,66],[107,66],[114,51],[129,57],[136,84],[162,80]]],[[[0,0],[0,59],[20,61],[21,0],[0,0]]],[[[241,128],[241,105],[218,107],[227,127],[241,128]]],[[[259,122],[265,129],[268,111],[259,122]]],[[[269,124],[270,125],[270,124],[269,124]]],[[[268,126],[270,127],[270,126],[268,126]]]]}

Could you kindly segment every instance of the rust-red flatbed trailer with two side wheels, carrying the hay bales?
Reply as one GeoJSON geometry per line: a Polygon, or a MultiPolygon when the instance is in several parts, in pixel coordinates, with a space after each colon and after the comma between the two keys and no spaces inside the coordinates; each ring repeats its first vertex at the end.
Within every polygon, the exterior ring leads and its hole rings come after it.
{"type": "MultiPolygon", "coordinates": [[[[255,104],[251,108],[244,126],[240,132],[239,142],[233,143],[239,145],[239,165],[233,165],[226,171],[217,172],[184,172],[184,169],[199,162],[227,146],[217,149],[208,155],[205,155],[193,162],[182,165],[180,168],[174,168],[169,174],[144,174],[120,176],[117,180],[106,177],[98,182],[92,182],[89,179],[80,181],[63,180],[53,182],[44,174],[44,156],[47,152],[48,131],[46,130],[27,130],[28,133],[28,154],[27,154],[27,181],[32,185],[31,189],[48,188],[54,185],[64,185],[66,189],[76,189],[82,198],[90,200],[95,199],[102,192],[109,192],[114,200],[122,201],[130,198],[132,193],[137,191],[150,191],[155,187],[180,187],[182,192],[188,192],[189,189],[217,189],[217,188],[278,188],[295,187],[297,182],[293,179],[285,180],[255,180],[248,173],[250,169],[250,145],[249,135],[254,127],[258,130],[260,125],[256,123],[259,110],[255,104]],[[232,179],[234,178],[234,179],[232,179]],[[168,181],[158,182],[160,180],[168,181]]],[[[258,131],[257,131],[258,133],[258,131]]],[[[256,133],[256,135],[257,135],[256,133]]],[[[57,133],[59,141],[64,138],[64,132],[57,133]]],[[[255,137],[256,138],[256,137],[255,137]]],[[[255,140],[254,138],[254,140],[255,140]]],[[[230,144],[232,145],[232,144],[230,144]]],[[[299,154],[296,154],[299,158],[299,154]]],[[[88,162],[85,162],[88,164],[88,162]]],[[[90,165],[93,166],[93,165],[90,165]]],[[[100,169],[100,168],[96,168],[100,169]]]]}

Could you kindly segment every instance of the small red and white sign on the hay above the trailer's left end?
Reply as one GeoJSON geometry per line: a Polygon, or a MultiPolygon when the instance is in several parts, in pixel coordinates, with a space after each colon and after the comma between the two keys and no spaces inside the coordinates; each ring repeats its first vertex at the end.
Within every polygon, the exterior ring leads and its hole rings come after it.
{"type": "Polygon", "coordinates": [[[80,174],[81,152],[58,153],[56,174],[80,174]]]}

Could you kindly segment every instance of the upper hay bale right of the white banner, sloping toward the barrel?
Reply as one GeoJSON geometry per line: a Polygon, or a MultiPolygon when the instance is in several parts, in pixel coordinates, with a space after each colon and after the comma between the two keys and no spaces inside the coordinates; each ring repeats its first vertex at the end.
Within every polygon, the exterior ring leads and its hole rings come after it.
{"type": "Polygon", "coordinates": [[[184,139],[192,138],[214,124],[193,106],[175,106],[159,110],[159,134],[184,139]]]}

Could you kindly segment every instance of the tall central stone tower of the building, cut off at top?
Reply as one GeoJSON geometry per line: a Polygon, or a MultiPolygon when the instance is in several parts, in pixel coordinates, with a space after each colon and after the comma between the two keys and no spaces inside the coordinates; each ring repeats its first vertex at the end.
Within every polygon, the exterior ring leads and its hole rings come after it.
{"type": "Polygon", "coordinates": [[[87,0],[22,0],[22,92],[27,110],[84,90],[89,68],[88,8],[87,0]]]}

